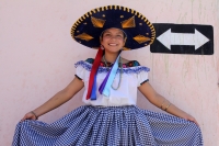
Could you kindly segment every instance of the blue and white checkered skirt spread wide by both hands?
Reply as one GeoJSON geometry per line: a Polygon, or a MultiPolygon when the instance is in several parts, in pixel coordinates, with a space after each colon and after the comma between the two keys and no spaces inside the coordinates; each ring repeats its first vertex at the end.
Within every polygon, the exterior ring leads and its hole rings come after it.
{"type": "Polygon", "coordinates": [[[199,127],[189,121],[127,106],[83,105],[47,124],[16,125],[12,146],[201,146],[199,127]]]}

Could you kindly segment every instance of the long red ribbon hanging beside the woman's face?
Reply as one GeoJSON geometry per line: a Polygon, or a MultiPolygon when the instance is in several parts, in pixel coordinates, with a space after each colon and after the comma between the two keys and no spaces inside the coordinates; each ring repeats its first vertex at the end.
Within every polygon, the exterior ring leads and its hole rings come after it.
{"type": "Polygon", "coordinates": [[[90,78],[89,78],[89,90],[88,90],[88,94],[87,94],[87,100],[89,100],[90,97],[91,97],[91,92],[92,92],[92,88],[93,88],[93,82],[94,82],[94,77],[95,77],[95,74],[97,72],[97,69],[99,69],[102,56],[103,56],[103,49],[101,49],[101,47],[100,47],[99,52],[97,52],[97,54],[95,56],[93,66],[91,68],[90,78]]]}

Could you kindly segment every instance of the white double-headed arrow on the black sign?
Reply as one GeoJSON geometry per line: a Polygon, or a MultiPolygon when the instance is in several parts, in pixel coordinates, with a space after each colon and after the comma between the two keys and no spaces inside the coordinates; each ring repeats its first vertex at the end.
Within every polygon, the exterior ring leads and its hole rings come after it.
{"type": "Polygon", "coordinates": [[[195,34],[189,33],[172,33],[171,29],[157,37],[165,47],[171,49],[171,45],[193,45],[198,49],[209,40],[195,29],[195,34]]]}

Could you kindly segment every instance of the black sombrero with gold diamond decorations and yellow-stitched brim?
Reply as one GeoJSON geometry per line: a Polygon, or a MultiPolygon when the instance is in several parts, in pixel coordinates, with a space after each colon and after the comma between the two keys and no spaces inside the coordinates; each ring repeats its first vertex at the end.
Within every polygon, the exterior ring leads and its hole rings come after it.
{"type": "Polygon", "coordinates": [[[145,15],[136,10],[107,5],[91,10],[71,27],[71,36],[88,47],[100,47],[102,32],[110,27],[123,30],[126,35],[124,49],[137,49],[153,43],[155,30],[145,15]]]}

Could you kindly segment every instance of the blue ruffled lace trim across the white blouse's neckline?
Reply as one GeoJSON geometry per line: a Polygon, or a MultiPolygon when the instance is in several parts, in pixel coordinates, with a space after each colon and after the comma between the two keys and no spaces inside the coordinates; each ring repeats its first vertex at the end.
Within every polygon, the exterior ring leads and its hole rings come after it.
{"type": "MultiPolygon", "coordinates": [[[[84,61],[80,60],[74,64],[74,67],[83,67],[87,71],[91,71],[92,65],[84,61]]],[[[137,67],[129,67],[129,68],[123,68],[124,74],[140,74],[141,71],[150,71],[150,68],[145,67],[145,66],[137,66],[137,67]]],[[[97,69],[99,74],[107,74],[108,69],[106,67],[99,67],[97,69]]],[[[120,69],[117,69],[117,72],[120,72],[120,69]]]]}

